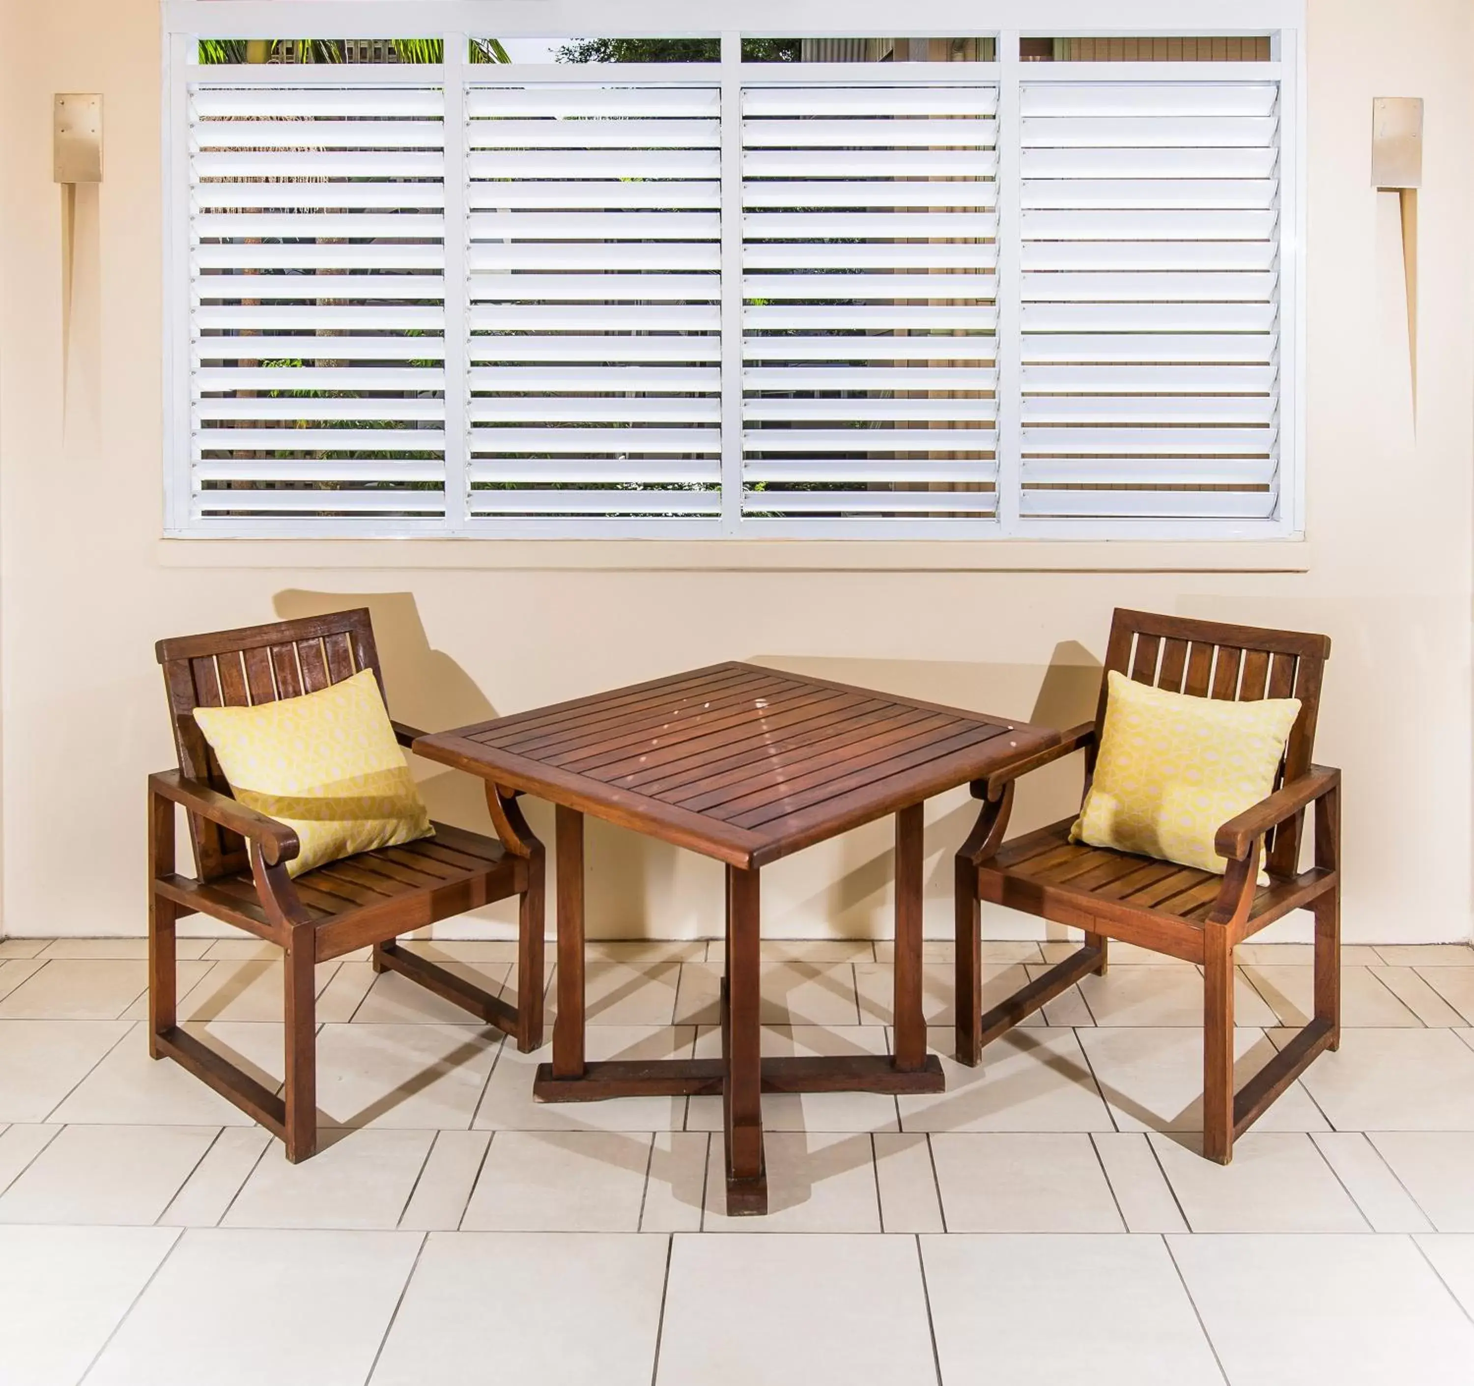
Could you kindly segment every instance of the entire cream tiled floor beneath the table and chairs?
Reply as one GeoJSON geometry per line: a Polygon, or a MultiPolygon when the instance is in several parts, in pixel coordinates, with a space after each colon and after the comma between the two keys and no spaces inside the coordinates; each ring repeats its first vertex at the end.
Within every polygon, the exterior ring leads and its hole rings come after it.
{"type": "MultiPolygon", "coordinates": [[[[414,947],[513,981],[506,943],[414,947]]],[[[989,943],[991,996],[1067,950],[989,943]]],[[[181,1016],[277,1084],[270,950],[180,956],[181,1016]]],[[[591,944],[590,1058],[715,1053],[719,957],[591,944]]],[[[765,944],[765,1052],[883,1052],[890,957],[765,944]]],[[[1303,947],[1241,963],[1240,1081],[1310,988],[1303,947]]],[[[1222,1168],[1195,968],[1117,947],[965,1068],[929,944],[946,1091],[766,1097],[749,1221],[719,1102],[537,1103],[545,1050],[363,957],[320,971],[321,1150],[289,1165],[147,1058],[137,940],[4,940],[0,1383],[1474,1386],[1474,950],[1344,963],[1340,1052],[1222,1168]]]]}

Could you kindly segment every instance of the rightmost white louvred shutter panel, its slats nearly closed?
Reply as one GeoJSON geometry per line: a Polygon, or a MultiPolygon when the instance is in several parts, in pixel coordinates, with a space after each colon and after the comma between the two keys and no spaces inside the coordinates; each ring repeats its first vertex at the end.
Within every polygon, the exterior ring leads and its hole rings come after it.
{"type": "Polygon", "coordinates": [[[1278,84],[1020,96],[1020,513],[1272,516],[1278,84]]]}

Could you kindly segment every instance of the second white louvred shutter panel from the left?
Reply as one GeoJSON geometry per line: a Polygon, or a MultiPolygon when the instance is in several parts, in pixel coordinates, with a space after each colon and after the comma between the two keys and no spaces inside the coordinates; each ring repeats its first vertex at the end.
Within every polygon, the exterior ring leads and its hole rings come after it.
{"type": "Polygon", "coordinates": [[[470,511],[721,514],[721,93],[467,91],[470,511]]]}

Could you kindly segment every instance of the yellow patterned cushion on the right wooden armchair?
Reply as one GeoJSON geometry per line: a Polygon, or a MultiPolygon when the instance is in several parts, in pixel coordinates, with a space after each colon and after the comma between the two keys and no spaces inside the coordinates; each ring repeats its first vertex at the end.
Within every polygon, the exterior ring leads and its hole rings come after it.
{"type": "Polygon", "coordinates": [[[1222,873],[1218,829],[1275,787],[1299,698],[1225,703],[1107,679],[1095,776],[1072,842],[1222,873]]]}

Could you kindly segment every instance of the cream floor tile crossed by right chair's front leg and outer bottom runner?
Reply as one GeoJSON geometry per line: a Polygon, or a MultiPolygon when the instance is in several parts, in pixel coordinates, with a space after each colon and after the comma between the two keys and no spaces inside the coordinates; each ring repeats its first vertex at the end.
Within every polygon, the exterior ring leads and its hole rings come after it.
{"type": "MultiPolygon", "coordinates": [[[[1076,1034],[1120,1130],[1203,1130],[1201,1030],[1187,1025],[1101,1025],[1076,1034]]],[[[1243,1087],[1274,1058],[1275,1049],[1263,1031],[1241,1025],[1234,1031],[1234,1084],[1243,1087]]],[[[1474,1050],[1470,1058],[1474,1059],[1474,1050]]],[[[1310,1072],[1324,1062],[1322,1055],[1310,1072]]],[[[1254,1122],[1254,1130],[1324,1131],[1327,1119],[1304,1088],[1294,1083],[1254,1122]]]]}

